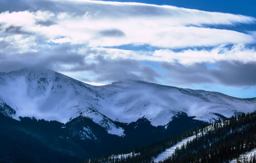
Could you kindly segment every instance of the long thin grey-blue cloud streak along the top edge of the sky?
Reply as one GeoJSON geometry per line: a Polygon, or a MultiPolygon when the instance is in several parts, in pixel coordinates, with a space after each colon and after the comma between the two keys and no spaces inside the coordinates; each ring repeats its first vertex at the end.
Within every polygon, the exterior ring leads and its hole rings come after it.
{"type": "Polygon", "coordinates": [[[51,0],[1,0],[0,12],[3,11],[52,11],[52,12],[71,12],[79,15],[85,14],[86,11],[96,13],[97,17],[131,17],[131,16],[170,16],[177,15],[176,12],[170,13],[168,9],[159,8],[149,5],[111,5],[95,4],[94,2],[72,2],[72,1],[51,1],[51,0]],[[79,7],[77,7],[79,5],[79,7]],[[112,11],[115,12],[112,12],[112,11]]]}

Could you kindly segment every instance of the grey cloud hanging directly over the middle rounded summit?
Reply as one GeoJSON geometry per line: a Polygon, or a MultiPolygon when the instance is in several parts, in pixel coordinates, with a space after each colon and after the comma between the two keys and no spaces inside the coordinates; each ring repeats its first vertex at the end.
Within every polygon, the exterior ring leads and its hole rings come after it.
{"type": "Polygon", "coordinates": [[[70,71],[90,71],[97,78],[95,82],[114,82],[124,79],[145,80],[157,82],[156,78],[161,78],[154,69],[148,66],[141,66],[140,62],[130,59],[111,60],[97,56],[97,63],[76,66],[70,71]]]}

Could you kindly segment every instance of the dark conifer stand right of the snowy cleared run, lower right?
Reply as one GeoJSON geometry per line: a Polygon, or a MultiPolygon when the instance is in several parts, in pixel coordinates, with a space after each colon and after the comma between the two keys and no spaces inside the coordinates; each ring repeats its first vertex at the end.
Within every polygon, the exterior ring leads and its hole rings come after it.
{"type": "MultiPolygon", "coordinates": [[[[167,162],[229,162],[256,147],[256,112],[232,116],[222,123],[212,124],[208,130],[186,147],[177,149],[167,162]]],[[[255,159],[247,160],[255,163],[255,159]]]]}

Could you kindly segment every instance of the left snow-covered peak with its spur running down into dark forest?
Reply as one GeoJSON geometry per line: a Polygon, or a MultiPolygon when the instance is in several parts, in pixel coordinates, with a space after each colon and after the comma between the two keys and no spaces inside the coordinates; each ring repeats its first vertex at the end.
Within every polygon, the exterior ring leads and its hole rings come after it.
{"type": "Polygon", "coordinates": [[[84,114],[93,118],[111,134],[123,135],[123,129],[95,109],[98,94],[91,85],[51,70],[22,69],[0,73],[0,97],[19,116],[68,122],[84,114]],[[84,93],[84,94],[81,94],[84,93]]]}

